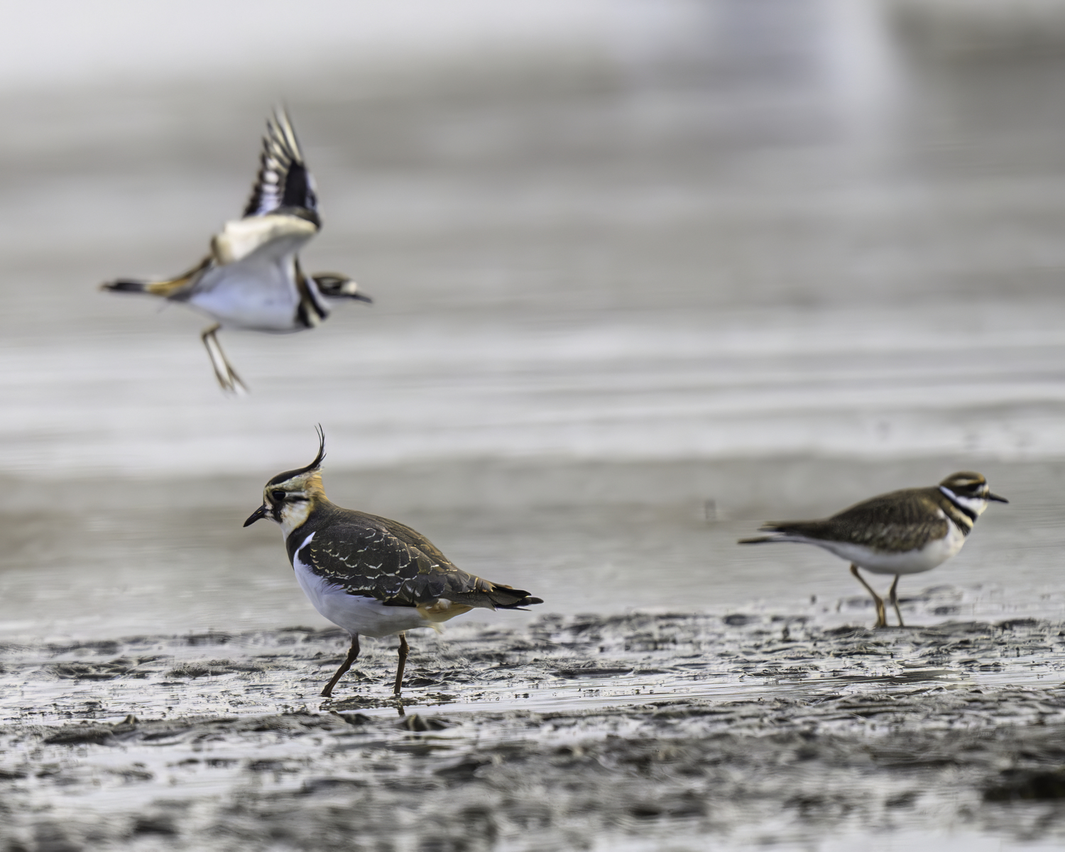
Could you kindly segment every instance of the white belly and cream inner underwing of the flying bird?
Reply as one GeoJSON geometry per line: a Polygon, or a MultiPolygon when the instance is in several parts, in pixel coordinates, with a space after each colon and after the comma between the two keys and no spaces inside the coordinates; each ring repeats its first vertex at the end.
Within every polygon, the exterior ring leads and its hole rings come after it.
{"type": "Polygon", "coordinates": [[[316,231],[307,219],[276,213],[227,222],[211,242],[214,263],[189,305],[224,326],[298,331],[295,256],[316,231]]]}

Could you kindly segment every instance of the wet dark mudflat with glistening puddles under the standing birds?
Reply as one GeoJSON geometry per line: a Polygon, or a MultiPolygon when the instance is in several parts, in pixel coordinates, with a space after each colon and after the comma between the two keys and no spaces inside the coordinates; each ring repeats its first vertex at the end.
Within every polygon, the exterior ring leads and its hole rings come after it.
{"type": "MultiPolygon", "coordinates": [[[[930,618],[950,594],[904,611],[930,618]]],[[[345,644],[331,629],[7,644],[0,838],[56,852],[1065,838],[1062,622],[629,613],[411,638],[400,704],[392,641],[317,697],[345,644]]]]}

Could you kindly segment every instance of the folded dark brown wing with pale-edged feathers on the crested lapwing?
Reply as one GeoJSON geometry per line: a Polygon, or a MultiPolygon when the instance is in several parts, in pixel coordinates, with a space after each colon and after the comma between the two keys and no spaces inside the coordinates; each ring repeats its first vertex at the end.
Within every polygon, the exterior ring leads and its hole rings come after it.
{"type": "Polygon", "coordinates": [[[348,594],[390,606],[421,609],[440,599],[489,609],[539,603],[528,592],[460,571],[410,527],[362,512],[330,523],[293,556],[348,594]]]}

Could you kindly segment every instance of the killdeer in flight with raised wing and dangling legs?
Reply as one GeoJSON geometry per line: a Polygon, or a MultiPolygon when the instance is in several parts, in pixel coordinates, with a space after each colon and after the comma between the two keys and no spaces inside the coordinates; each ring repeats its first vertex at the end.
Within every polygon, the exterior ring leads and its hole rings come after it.
{"type": "Polygon", "coordinates": [[[223,327],[253,331],[302,331],[329,316],[333,299],[371,301],[345,275],[305,275],[296,252],[317,233],[314,178],[307,169],[292,122],[277,110],[266,122],[259,175],[240,219],[211,239],[211,253],[192,269],[165,281],[120,278],[101,289],[147,293],[179,301],[215,321],[200,334],[218,384],[246,392],[216,337],[223,327]]]}

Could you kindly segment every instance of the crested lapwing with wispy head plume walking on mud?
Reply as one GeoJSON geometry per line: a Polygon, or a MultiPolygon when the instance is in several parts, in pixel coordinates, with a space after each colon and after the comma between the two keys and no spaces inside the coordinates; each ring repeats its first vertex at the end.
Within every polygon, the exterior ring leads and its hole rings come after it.
{"type": "Polygon", "coordinates": [[[244,522],[260,518],[281,525],[289,560],[314,608],[351,637],[351,646],[322,694],[359,656],[359,636],[399,636],[399,665],[393,692],[398,695],[407,662],[406,632],[440,629],[440,623],[487,609],[523,609],[542,604],[528,592],[489,583],[459,571],[425,536],[388,518],[330,503],[322,487],[325,435],[318,427],[318,454],[297,471],[285,471],[263,489],[263,505],[244,522]]]}

